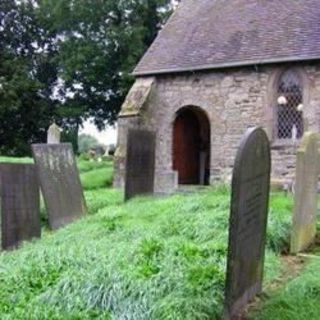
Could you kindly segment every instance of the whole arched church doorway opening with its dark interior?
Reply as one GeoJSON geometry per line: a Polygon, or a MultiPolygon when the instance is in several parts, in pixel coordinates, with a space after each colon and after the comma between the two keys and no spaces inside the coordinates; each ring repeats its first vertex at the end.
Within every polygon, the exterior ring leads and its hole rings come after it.
{"type": "Polygon", "coordinates": [[[210,122],[200,108],[180,109],[173,124],[173,170],[179,184],[209,184],[210,122]]]}

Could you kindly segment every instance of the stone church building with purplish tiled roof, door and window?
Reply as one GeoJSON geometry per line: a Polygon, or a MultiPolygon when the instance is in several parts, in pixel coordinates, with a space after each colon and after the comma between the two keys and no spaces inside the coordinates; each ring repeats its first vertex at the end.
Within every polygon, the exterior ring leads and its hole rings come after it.
{"type": "Polygon", "coordinates": [[[319,0],[182,0],[134,75],[115,186],[130,128],[156,133],[156,192],[227,179],[253,126],[267,132],[272,176],[285,183],[303,133],[320,131],[319,0]]]}

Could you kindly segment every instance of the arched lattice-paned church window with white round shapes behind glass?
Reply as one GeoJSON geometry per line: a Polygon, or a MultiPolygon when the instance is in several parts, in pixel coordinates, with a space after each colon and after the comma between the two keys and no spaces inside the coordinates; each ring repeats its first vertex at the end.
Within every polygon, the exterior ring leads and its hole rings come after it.
{"type": "Polygon", "coordinates": [[[282,73],[277,86],[278,139],[299,139],[303,135],[303,85],[294,70],[282,73]]]}

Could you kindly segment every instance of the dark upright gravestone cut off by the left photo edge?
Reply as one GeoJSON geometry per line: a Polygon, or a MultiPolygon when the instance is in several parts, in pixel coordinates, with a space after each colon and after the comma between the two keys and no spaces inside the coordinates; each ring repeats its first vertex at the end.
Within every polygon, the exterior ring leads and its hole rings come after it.
{"type": "Polygon", "coordinates": [[[40,196],[34,164],[0,164],[2,248],[40,238],[40,196]]]}

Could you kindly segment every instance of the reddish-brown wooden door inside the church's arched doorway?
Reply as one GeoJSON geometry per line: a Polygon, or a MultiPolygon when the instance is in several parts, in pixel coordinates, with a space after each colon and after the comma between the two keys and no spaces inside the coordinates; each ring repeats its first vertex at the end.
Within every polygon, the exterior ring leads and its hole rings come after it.
{"type": "Polygon", "coordinates": [[[200,125],[197,116],[185,110],[175,120],[173,133],[173,170],[179,184],[198,184],[200,170],[200,125]]]}

